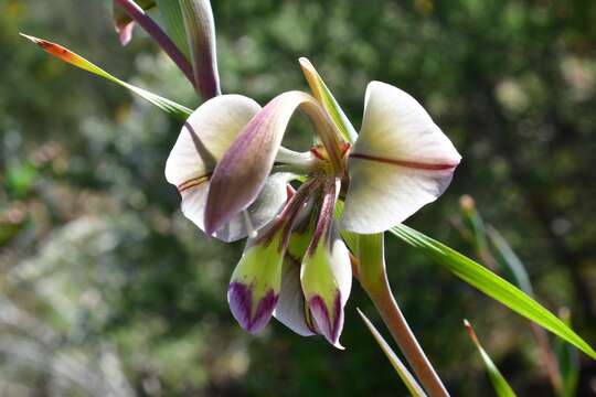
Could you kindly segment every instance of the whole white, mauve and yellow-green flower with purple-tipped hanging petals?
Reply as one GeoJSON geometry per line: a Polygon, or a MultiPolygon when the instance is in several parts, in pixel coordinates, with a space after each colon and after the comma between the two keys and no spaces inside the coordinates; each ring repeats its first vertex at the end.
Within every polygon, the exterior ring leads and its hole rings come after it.
{"type": "MultiPolygon", "coordinates": [[[[309,83],[320,78],[301,64],[309,83]]],[[[352,268],[340,230],[376,234],[405,221],[445,191],[460,155],[424,108],[389,84],[369,84],[353,142],[320,99],[288,92],[264,108],[240,95],[207,100],[182,128],[166,178],[207,235],[248,236],[227,293],[244,329],[258,332],[274,315],[341,347],[352,268]],[[316,132],[306,153],[281,147],[297,109],[316,132]]]]}

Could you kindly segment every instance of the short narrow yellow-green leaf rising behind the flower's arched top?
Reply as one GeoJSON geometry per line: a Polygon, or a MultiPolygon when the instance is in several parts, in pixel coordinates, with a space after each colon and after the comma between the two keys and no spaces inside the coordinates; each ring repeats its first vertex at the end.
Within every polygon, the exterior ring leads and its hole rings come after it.
{"type": "Polygon", "coordinates": [[[315,69],[315,66],[312,66],[310,61],[308,61],[306,57],[301,57],[299,62],[308,85],[312,90],[312,95],[327,110],[328,115],[333,120],[333,124],[341,132],[343,139],[350,143],[355,142],[358,133],[354,127],[339,106],[338,101],[322,81],[317,69],[315,69]]]}

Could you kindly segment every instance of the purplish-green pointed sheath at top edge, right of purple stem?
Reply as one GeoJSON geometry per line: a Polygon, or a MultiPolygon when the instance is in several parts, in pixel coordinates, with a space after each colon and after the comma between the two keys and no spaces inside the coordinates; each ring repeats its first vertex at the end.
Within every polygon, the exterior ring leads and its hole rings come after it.
{"type": "Polygon", "coordinates": [[[215,22],[211,2],[209,0],[180,0],[179,7],[182,9],[183,26],[190,44],[194,81],[203,99],[212,98],[221,94],[221,88],[215,50],[215,22]]]}

